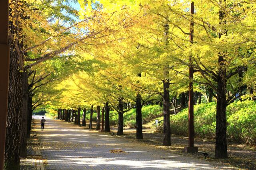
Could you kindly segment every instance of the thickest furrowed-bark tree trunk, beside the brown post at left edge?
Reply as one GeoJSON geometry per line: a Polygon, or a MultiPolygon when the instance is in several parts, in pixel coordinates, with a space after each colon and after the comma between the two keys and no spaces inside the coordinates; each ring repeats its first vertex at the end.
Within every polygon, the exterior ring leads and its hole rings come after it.
{"type": "MultiPolygon", "coordinates": [[[[13,33],[14,29],[16,29],[12,24],[10,25],[10,28],[11,33],[13,33]]],[[[20,126],[22,118],[23,100],[22,72],[20,72],[19,55],[17,51],[14,49],[14,43],[11,43],[8,90],[8,114],[4,153],[4,168],[6,170],[20,169],[20,126]]]]}

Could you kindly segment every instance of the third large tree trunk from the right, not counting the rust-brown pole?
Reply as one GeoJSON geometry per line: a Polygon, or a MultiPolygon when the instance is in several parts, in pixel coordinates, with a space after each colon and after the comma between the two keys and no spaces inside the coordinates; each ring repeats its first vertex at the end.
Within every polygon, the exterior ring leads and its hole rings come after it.
{"type": "Polygon", "coordinates": [[[136,98],[136,139],[143,139],[141,109],[142,109],[141,96],[138,93],[136,98]]]}

